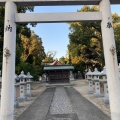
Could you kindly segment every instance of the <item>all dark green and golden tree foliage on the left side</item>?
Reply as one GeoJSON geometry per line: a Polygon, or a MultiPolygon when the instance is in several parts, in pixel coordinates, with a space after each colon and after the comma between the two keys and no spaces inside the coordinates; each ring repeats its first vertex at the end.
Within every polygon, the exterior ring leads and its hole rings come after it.
{"type": "MultiPolygon", "coordinates": [[[[4,39],[4,7],[0,7],[0,69],[2,69],[3,39],[4,39]]],[[[18,13],[34,11],[33,6],[19,6],[18,13]]],[[[28,24],[17,24],[16,34],[16,73],[23,70],[25,74],[29,71],[35,79],[42,74],[41,65],[45,58],[42,39],[31,32],[28,24]]]]}

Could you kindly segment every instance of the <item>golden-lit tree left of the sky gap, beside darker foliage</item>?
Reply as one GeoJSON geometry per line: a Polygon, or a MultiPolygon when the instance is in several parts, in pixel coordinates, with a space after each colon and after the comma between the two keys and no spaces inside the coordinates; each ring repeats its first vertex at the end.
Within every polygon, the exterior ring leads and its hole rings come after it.
{"type": "Polygon", "coordinates": [[[34,65],[41,65],[42,60],[45,58],[41,38],[33,33],[30,38],[22,36],[21,39],[24,48],[21,60],[34,65]]]}

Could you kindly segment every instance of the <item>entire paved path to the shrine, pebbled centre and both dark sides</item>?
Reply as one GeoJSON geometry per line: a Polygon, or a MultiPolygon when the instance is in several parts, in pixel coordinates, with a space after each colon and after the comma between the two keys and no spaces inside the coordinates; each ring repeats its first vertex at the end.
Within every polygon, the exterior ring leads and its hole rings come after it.
{"type": "Polygon", "coordinates": [[[72,87],[47,88],[17,120],[110,120],[72,87]]]}

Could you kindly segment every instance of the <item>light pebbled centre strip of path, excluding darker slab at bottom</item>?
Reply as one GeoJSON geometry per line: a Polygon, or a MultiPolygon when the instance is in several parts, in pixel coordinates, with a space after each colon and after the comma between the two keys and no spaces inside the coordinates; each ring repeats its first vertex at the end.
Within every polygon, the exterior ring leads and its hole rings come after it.
{"type": "Polygon", "coordinates": [[[70,99],[64,87],[57,87],[50,107],[50,114],[69,113],[74,113],[70,99]]]}

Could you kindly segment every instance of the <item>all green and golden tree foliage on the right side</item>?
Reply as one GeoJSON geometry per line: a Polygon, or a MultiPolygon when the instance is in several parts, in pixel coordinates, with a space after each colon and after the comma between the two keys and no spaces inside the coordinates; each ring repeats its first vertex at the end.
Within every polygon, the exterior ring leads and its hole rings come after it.
{"type": "MultiPolygon", "coordinates": [[[[98,11],[97,6],[83,6],[77,12],[98,11]]],[[[117,43],[118,61],[120,61],[120,17],[112,15],[117,43]]],[[[69,56],[75,70],[86,71],[95,67],[101,69],[105,65],[100,22],[69,23],[69,56]]]]}

